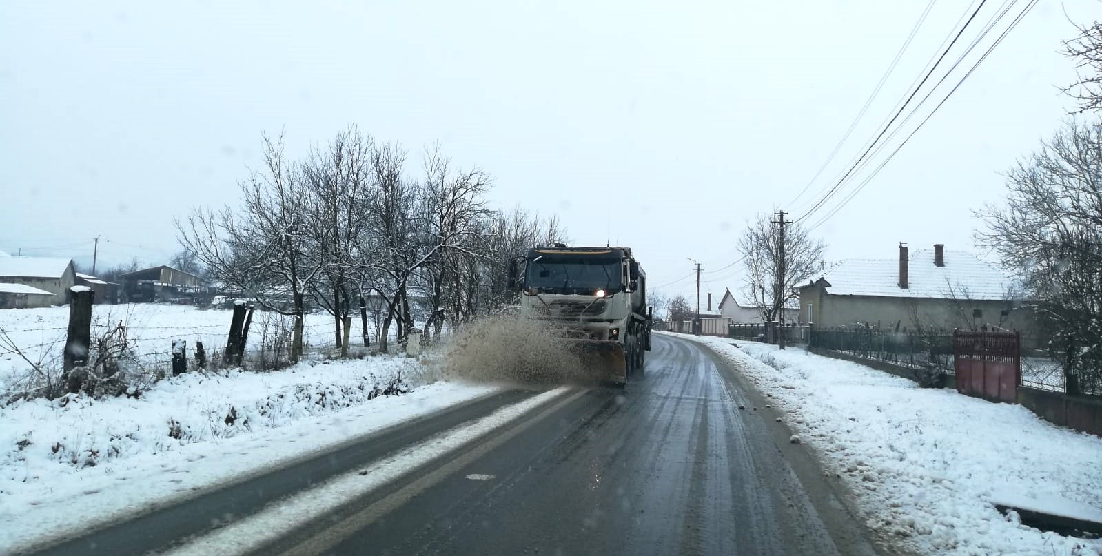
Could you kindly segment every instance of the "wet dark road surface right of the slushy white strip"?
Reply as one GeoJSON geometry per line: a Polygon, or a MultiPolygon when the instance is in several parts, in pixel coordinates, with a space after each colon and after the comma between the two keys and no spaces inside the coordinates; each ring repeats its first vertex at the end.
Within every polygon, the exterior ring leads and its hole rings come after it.
{"type": "Polygon", "coordinates": [[[738,383],[710,352],[656,335],[646,375],[625,390],[579,392],[259,552],[871,552],[738,383]]]}

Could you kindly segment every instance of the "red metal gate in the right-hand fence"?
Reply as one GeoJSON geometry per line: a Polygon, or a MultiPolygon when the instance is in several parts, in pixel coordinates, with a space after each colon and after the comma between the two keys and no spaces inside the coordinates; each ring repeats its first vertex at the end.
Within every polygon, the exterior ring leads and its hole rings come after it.
{"type": "Polygon", "coordinates": [[[1022,336],[1017,331],[955,330],[953,369],[958,392],[1016,403],[1022,384],[1022,336]]]}

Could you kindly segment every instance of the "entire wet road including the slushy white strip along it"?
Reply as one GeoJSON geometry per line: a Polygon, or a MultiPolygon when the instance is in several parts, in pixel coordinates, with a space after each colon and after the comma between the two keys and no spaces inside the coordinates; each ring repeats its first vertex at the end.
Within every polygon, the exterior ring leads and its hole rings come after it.
{"type": "Polygon", "coordinates": [[[656,337],[626,390],[506,392],[42,554],[872,554],[739,380],[656,337]]]}

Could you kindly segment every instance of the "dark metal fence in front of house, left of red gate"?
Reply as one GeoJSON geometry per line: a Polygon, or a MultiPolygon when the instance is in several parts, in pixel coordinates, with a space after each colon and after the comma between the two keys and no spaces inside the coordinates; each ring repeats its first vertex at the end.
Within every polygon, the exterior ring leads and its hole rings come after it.
{"type": "Polygon", "coordinates": [[[933,367],[953,372],[951,331],[916,335],[873,327],[811,327],[808,345],[915,369],[933,367]]]}

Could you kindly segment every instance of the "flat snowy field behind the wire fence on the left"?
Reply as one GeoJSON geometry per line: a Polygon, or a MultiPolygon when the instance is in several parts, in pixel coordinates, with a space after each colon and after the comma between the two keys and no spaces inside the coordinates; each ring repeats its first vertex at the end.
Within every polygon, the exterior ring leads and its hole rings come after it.
{"type": "MultiPolygon", "coordinates": [[[[194,352],[196,341],[202,341],[208,351],[225,348],[231,314],[226,309],[201,310],[187,305],[94,305],[91,336],[96,338],[97,332],[114,328],[121,321],[143,361],[151,366],[170,367],[173,339],[186,340],[190,355],[194,352]]],[[[68,315],[67,306],[0,309],[0,330],[32,361],[60,369],[68,315]]],[[[272,334],[278,318],[280,316],[276,313],[258,310],[253,314],[249,349],[260,346],[266,331],[272,334]]],[[[328,315],[306,315],[304,328],[303,341],[307,346],[334,345],[333,319],[328,315]]],[[[371,334],[374,336],[374,330],[371,334]]],[[[359,321],[353,319],[352,338],[360,337],[359,321]]],[[[23,358],[3,349],[0,342],[0,393],[8,391],[12,381],[24,375],[29,369],[30,364],[23,358]]]]}

